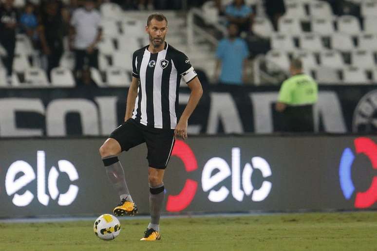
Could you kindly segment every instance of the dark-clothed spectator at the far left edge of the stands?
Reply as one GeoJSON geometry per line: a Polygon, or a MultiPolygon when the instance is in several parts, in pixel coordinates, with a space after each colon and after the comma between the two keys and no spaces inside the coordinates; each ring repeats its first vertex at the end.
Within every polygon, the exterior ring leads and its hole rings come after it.
{"type": "Polygon", "coordinates": [[[7,54],[3,61],[7,70],[8,81],[12,76],[17,20],[17,10],[13,7],[13,0],[5,0],[0,6],[0,43],[7,54]]]}

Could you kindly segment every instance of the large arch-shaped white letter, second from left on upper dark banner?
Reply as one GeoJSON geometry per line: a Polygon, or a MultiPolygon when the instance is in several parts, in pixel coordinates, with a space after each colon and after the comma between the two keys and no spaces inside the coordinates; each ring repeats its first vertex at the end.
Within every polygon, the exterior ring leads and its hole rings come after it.
{"type": "Polygon", "coordinates": [[[98,112],[94,103],[87,99],[57,99],[46,109],[46,130],[48,136],[65,136],[65,117],[69,112],[80,114],[82,134],[99,135],[98,112]]]}

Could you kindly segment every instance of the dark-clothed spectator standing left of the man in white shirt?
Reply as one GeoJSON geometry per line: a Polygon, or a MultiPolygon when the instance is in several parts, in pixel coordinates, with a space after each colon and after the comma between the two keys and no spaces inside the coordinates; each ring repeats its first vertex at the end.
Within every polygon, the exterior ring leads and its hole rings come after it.
{"type": "Polygon", "coordinates": [[[38,35],[42,53],[47,58],[47,74],[59,66],[63,54],[63,37],[66,35],[62,17],[64,8],[57,0],[42,2],[39,16],[38,35]]]}

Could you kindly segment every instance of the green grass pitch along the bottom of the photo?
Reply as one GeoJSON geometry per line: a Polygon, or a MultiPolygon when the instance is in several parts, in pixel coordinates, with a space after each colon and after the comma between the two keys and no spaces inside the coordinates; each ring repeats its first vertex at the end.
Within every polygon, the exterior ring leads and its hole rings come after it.
{"type": "Polygon", "coordinates": [[[149,243],[139,241],[148,220],[122,220],[113,241],[98,239],[93,223],[0,223],[0,250],[377,251],[375,212],[168,218],[149,243]]]}

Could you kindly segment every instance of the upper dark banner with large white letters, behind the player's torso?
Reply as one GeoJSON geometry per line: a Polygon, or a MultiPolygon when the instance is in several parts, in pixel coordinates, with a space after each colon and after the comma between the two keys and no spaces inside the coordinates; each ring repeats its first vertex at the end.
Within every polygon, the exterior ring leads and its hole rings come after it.
{"type": "MultiPolygon", "coordinates": [[[[327,133],[375,133],[374,86],[321,86],[315,128],[327,133]]],[[[280,129],[274,110],[278,87],[210,86],[192,114],[188,132],[270,134],[280,129]]],[[[127,89],[0,91],[0,137],[107,136],[124,119],[127,89]]],[[[189,97],[181,88],[181,113],[189,97]]]]}

